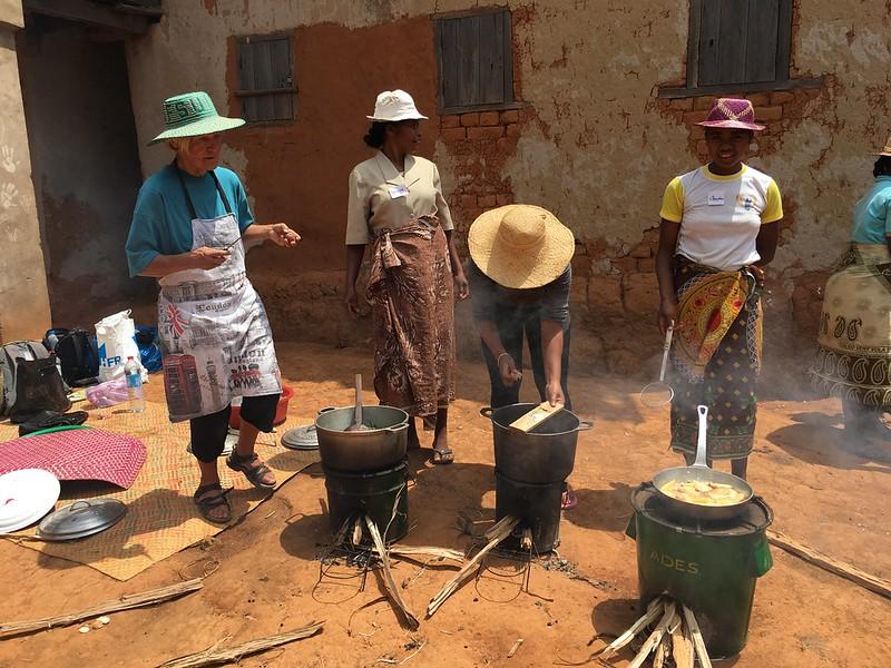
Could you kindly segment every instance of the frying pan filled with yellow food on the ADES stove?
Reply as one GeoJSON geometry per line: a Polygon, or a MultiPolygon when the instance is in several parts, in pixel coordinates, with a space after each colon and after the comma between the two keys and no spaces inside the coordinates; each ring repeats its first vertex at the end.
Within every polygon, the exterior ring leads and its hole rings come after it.
{"type": "Polygon", "coordinates": [[[742,478],[714,471],[706,462],[708,409],[698,406],[699,439],[692,466],[675,466],[653,477],[663,502],[675,514],[705,521],[730,520],[752,500],[752,487],[742,478]]]}

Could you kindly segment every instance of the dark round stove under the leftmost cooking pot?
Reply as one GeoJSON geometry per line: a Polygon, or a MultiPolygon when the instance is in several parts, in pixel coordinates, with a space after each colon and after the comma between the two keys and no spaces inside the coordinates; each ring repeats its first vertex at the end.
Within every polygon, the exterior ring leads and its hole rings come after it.
{"type": "MultiPolygon", "coordinates": [[[[332,533],[337,533],[347,519],[360,514],[368,515],[378,525],[384,542],[396,541],[409,532],[408,468],[404,462],[372,473],[337,471],[324,465],[322,469],[332,533]]],[[[363,536],[368,540],[368,530],[363,536]]]]}

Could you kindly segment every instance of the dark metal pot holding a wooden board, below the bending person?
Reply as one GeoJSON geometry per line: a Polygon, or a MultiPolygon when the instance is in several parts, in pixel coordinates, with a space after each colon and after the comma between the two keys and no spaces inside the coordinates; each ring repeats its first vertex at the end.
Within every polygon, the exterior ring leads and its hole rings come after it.
{"type": "Polygon", "coordinates": [[[520,403],[480,411],[492,421],[495,468],[517,482],[566,480],[576,463],[578,432],[593,429],[594,423],[564,409],[528,433],[510,429],[512,422],[537,405],[520,403]]]}

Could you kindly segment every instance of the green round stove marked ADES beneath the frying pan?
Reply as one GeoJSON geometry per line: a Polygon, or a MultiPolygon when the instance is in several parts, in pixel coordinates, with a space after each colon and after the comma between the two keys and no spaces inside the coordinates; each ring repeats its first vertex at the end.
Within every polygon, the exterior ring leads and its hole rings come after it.
{"type": "Polygon", "coordinates": [[[755,582],[773,566],[765,531],[773,513],[755,497],[735,521],[686,523],[665,514],[650,483],[631,493],[626,533],[637,542],[640,600],[667,592],[696,615],[708,656],[724,659],[745,647],[755,582]]]}

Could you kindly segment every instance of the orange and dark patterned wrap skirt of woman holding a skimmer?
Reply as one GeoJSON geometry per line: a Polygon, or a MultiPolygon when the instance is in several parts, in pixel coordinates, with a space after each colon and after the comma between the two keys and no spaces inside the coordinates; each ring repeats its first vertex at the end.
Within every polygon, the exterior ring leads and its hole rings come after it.
{"type": "Polygon", "coordinates": [[[698,414],[708,407],[709,460],[752,452],[761,374],[764,274],[721,272],[676,257],[677,322],[672,385],[672,449],[696,453],[698,414]]]}

